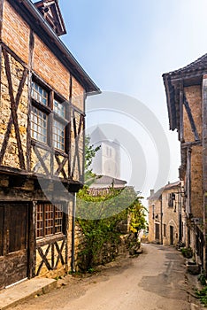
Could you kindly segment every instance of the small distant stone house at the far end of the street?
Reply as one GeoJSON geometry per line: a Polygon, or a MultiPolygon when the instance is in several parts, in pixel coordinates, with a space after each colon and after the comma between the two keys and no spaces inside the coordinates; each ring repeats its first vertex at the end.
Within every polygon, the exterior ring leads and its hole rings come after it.
{"type": "Polygon", "coordinates": [[[149,242],[176,245],[186,241],[186,215],[183,209],[181,182],[168,183],[150,191],[149,242]]]}

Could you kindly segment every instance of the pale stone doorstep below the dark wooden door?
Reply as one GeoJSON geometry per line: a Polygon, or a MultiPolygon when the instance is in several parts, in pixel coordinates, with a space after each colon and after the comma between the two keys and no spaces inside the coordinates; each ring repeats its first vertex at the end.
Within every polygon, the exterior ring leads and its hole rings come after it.
{"type": "Polygon", "coordinates": [[[57,281],[47,278],[34,278],[17,283],[8,289],[0,291],[0,310],[19,303],[35,295],[45,294],[57,287],[57,281]]]}

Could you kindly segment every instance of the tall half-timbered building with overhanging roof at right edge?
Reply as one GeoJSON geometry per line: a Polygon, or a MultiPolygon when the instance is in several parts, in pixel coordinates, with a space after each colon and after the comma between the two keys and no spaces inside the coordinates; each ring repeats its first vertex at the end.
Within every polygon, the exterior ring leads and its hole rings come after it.
{"type": "Polygon", "coordinates": [[[187,246],[207,270],[207,55],[163,74],[170,129],[180,141],[180,180],[184,182],[187,246]]]}

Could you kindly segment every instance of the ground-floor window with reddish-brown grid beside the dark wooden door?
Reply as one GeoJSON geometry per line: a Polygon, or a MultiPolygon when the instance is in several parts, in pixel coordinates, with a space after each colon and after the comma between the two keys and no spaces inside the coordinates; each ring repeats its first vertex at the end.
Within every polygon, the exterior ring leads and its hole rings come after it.
{"type": "Polygon", "coordinates": [[[38,204],[36,210],[36,237],[64,233],[63,205],[38,204]]]}

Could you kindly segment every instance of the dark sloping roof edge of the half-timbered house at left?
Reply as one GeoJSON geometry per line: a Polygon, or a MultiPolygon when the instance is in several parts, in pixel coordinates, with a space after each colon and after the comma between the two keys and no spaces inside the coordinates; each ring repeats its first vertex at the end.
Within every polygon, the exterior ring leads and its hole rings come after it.
{"type": "MultiPolygon", "coordinates": [[[[89,95],[100,93],[96,83],[91,80],[85,70],[80,66],[72,53],[65,44],[59,39],[57,33],[50,26],[48,21],[43,18],[42,13],[38,11],[30,0],[17,1],[8,0],[12,7],[19,12],[19,15],[26,20],[29,27],[41,37],[42,41],[50,48],[62,64],[73,74],[74,78],[80,82],[80,85],[89,95]]],[[[78,16],[77,16],[78,18],[78,16]]]]}

